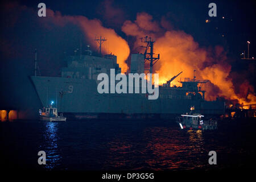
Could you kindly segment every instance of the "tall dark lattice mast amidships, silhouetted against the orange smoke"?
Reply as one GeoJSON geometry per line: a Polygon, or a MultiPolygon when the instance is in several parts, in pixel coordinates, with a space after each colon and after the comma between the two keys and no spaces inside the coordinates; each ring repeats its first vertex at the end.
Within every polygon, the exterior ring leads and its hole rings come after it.
{"type": "Polygon", "coordinates": [[[154,53],[153,47],[154,47],[155,41],[152,41],[151,38],[148,38],[148,39],[147,39],[147,36],[145,38],[141,38],[141,42],[147,43],[147,46],[142,46],[143,48],[145,48],[144,60],[145,62],[147,60],[150,61],[150,73],[152,73],[153,65],[160,59],[160,55],[158,54],[157,57],[154,57],[155,53],[154,53]],[[150,52],[148,52],[148,49],[150,49],[150,52]]]}

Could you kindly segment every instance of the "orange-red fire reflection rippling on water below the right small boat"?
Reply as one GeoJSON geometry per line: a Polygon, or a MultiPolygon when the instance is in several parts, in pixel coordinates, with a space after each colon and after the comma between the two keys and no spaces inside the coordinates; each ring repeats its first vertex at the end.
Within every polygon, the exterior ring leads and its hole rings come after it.
{"type": "MultiPolygon", "coordinates": [[[[152,128],[152,139],[147,144],[147,150],[152,151],[154,158],[146,160],[150,168],[160,169],[193,169],[195,156],[204,152],[204,139],[202,133],[196,131],[170,130],[167,128],[152,128]],[[188,139],[189,136],[189,139],[188,139]]],[[[146,134],[148,135],[148,134],[146,134]]]]}

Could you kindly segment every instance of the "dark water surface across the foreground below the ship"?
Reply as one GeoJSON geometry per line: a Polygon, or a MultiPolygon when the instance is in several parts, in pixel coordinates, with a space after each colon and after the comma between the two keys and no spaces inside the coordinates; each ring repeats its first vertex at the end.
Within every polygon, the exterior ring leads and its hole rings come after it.
{"type": "Polygon", "coordinates": [[[255,119],[220,121],[215,131],[173,121],[1,122],[1,163],[14,169],[184,170],[247,168],[256,162],[255,119]],[[38,164],[46,151],[47,165],[38,164]],[[209,165],[208,152],[217,152],[209,165]]]}

